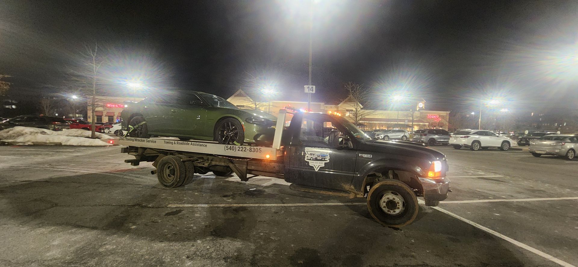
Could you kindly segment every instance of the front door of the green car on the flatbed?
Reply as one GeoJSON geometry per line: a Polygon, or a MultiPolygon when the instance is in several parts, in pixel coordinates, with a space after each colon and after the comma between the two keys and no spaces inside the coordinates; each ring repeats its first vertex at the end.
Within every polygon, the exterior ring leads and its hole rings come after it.
{"type": "Polygon", "coordinates": [[[213,128],[206,127],[206,103],[194,93],[184,93],[169,110],[169,127],[164,130],[175,136],[212,140],[213,128]]]}

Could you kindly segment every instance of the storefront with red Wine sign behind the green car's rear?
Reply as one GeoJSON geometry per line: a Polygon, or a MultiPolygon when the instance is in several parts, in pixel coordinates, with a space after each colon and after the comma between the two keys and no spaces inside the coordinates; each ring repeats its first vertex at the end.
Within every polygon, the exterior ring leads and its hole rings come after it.
{"type": "MultiPolygon", "coordinates": [[[[97,96],[97,108],[95,117],[97,123],[116,123],[120,121],[120,113],[123,112],[125,101],[136,102],[144,98],[132,97],[99,97],[97,96]]],[[[91,97],[87,97],[87,120],[92,121],[92,107],[90,106],[91,97]]]]}

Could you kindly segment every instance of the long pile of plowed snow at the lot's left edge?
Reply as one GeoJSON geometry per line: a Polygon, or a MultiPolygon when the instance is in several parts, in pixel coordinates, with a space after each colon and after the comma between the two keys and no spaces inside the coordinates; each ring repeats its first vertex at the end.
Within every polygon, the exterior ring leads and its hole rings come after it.
{"type": "Polygon", "coordinates": [[[89,139],[90,131],[83,129],[64,129],[51,131],[32,127],[14,127],[0,131],[0,140],[3,142],[18,142],[21,144],[34,143],[61,143],[65,146],[110,146],[99,139],[111,139],[110,136],[97,132],[97,138],[89,139]]]}

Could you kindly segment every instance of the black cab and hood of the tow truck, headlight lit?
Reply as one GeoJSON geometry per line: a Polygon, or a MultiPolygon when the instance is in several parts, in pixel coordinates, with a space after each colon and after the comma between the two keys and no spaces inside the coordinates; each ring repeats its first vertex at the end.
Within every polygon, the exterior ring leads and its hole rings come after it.
{"type": "Polygon", "coordinates": [[[428,205],[447,198],[446,157],[423,144],[373,139],[346,118],[323,113],[295,113],[283,135],[288,183],[362,197],[394,179],[428,205]]]}

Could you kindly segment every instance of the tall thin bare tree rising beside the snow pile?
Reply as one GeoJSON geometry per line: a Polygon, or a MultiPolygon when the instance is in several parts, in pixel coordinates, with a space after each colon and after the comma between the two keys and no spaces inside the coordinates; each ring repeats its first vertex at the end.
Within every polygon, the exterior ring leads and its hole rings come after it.
{"type": "Polygon", "coordinates": [[[79,91],[87,97],[87,106],[91,109],[92,138],[96,137],[96,110],[104,106],[97,99],[102,89],[99,69],[106,62],[106,58],[99,54],[99,48],[97,43],[94,47],[85,45],[86,51],[80,53],[76,65],[69,69],[69,79],[66,81],[69,90],[79,91]]]}

